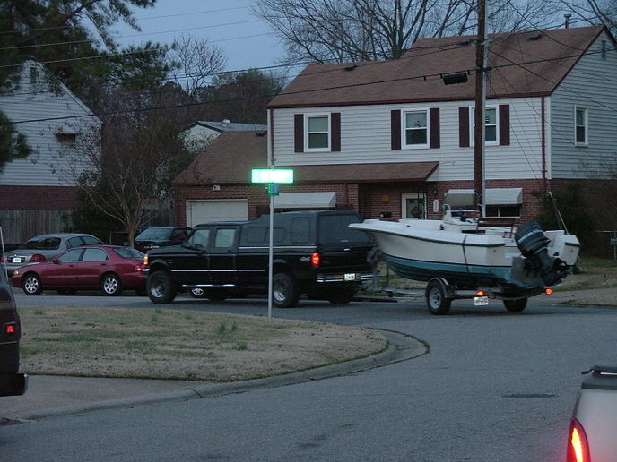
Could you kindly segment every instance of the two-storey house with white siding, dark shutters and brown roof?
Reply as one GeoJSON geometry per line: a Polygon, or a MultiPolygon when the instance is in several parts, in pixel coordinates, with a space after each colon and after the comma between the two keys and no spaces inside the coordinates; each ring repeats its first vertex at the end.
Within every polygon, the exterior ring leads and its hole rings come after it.
{"type": "MultiPolygon", "coordinates": [[[[421,39],[399,60],[309,65],[268,105],[268,156],[296,177],[282,191],[332,193],[329,206],[364,218],[439,217],[444,193],[474,187],[474,44],[421,39]],[[444,84],[461,72],[467,82],[444,84]]],[[[487,214],[526,220],[537,193],[616,157],[615,40],[602,26],[496,34],[488,62],[487,214]]],[[[241,152],[227,158],[248,179],[241,152]]],[[[222,180],[204,180],[202,199],[214,185],[224,199],[222,180]]],[[[263,210],[261,191],[234,187],[249,218],[263,210]]]]}

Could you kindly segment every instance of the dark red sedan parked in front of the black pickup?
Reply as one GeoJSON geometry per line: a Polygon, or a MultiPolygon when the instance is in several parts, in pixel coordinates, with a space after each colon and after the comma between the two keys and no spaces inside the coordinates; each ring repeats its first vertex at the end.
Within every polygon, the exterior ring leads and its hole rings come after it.
{"type": "Polygon", "coordinates": [[[126,288],[145,295],[142,269],[142,252],[117,245],[87,245],[15,270],[11,283],[27,295],[43,290],[73,295],[80,289],[97,288],[104,295],[119,295],[126,288]]]}

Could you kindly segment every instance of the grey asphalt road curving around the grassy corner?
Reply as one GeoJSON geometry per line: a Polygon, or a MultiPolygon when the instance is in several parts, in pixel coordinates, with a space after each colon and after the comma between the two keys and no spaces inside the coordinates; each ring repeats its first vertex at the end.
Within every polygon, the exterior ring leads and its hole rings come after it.
{"type": "MultiPolygon", "coordinates": [[[[135,296],[23,298],[155,306],[135,296]]],[[[0,460],[562,460],[579,372],[617,363],[617,318],[613,309],[543,303],[513,314],[459,301],[439,317],[421,301],[274,310],[404,332],[430,352],[287,387],[0,427],[0,460]]],[[[181,298],[166,309],[265,315],[266,304],[181,298]]]]}

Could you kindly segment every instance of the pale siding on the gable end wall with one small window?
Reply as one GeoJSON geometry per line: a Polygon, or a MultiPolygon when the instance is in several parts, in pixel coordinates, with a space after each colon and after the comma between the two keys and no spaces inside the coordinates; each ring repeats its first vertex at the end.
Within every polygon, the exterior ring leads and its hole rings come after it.
{"type": "Polygon", "coordinates": [[[552,178],[601,177],[617,167],[617,51],[601,34],[551,98],[552,178]],[[601,56],[606,41],[606,59],[601,56]],[[588,146],[575,146],[574,107],[588,110],[588,146]]]}

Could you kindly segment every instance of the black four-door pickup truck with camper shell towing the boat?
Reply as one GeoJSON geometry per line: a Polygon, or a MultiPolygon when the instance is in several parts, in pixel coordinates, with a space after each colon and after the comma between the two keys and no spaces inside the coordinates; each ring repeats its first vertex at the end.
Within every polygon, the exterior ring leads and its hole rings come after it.
{"type": "MultiPolygon", "coordinates": [[[[305,210],[274,214],[273,304],[288,308],[300,295],[348,303],[372,271],[369,235],[348,227],[352,210],[305,210]]],[[[178,291],[211,300],[267,294],[270,216],[254,221],[198,225],[181,245],[146,254],[148,296],[171,303],[178,291]]]]}

